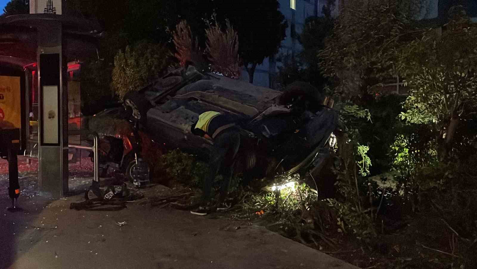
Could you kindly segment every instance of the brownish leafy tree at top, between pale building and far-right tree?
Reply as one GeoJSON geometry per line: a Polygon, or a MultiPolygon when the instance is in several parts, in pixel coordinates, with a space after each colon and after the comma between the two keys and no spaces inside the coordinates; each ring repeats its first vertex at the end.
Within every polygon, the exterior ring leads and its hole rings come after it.
{"type": "Polygon", "coordinates": [[[369,86],[397,75],[397,50],[413,33],[400,4],[355,0],[342,8],[318,55],[321,72],[336,82],[335,93],[362,97],[369,86]]]}

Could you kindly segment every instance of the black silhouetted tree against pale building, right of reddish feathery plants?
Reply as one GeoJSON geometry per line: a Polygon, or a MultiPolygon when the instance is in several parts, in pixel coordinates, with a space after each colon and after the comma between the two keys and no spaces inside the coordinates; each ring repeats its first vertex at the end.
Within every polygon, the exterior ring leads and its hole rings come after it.
{"type": "Polygon", "coordinates": [[[249,73],[249,82],[257,64],[278,53],[288,23],[277,0],[215,0],[216,20],[228,19],[239,33],[239,54],[249,73]]]}

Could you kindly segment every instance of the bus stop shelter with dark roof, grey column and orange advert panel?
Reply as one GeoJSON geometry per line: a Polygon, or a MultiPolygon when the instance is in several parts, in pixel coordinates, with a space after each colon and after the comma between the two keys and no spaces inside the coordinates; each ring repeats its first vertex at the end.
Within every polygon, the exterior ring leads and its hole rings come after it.
{"type": "Polygon", "coordinates": [[[80,110],[72,82],[80,60],[98,57],[100,36],[97,24],[66,15],[0,18],[0,128],[20,128],[19,153],[38,149],[41,196],[68,191],[68,123],[80,110]]]}

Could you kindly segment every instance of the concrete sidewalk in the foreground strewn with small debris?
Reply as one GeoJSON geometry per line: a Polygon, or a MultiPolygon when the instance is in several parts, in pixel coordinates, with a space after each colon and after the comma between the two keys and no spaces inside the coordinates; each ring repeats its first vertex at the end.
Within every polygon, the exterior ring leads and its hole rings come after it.
{"type": "Polygon", "coordinates": [[[356,268],[245,222],[134,202],[120,211],[69,209],[82,200],[35,197],[10,213],[0,197],[0,268],[356,268]]]}

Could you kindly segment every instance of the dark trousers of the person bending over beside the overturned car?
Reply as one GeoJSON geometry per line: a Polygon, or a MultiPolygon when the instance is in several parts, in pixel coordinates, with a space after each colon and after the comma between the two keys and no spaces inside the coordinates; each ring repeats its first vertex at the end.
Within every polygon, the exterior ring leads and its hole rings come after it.
{"type": "Polygon", "coordinates": [[[217,173],[223,176],[220,186],[219,203],[223,202],[227,196],[228,186],[232,179],[235,164],[235,157],[240,147],[240,134],[235,128],[222,131],[214,139],[209,158],[209,170],[204,179],[202,187],[202,204],[207,204],[210,200],[210,193],[217,173]]]}

